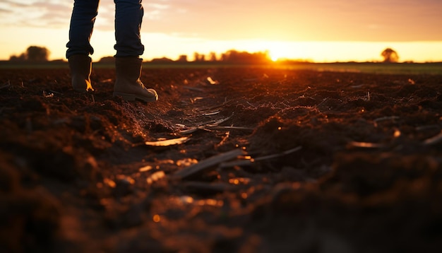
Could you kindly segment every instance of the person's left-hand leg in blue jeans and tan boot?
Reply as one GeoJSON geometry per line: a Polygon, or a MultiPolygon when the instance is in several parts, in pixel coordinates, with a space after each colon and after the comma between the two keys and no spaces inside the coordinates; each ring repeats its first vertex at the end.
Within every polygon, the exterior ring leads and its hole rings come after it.
{"type": "Polygon", "coordinates": [[[90,45],[90,36],[97,16],[100,0],[75,0],[69,27],[69,42],[66,44],[66,58],[71,69],[71,82],[74,90],[85,92],[93,90],[90,83],[94,49],[90,45]]]}

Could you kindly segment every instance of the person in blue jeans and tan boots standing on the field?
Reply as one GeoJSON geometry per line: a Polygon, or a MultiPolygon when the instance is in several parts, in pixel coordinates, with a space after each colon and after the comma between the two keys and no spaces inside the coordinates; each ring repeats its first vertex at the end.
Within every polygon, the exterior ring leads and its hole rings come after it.
{"type": "MultiPolygon", "coordinates": [[[[114,96],[124,100],[156,101],[155,90],[145,88],[140,80],[144,52],[141,43],[141,23],[143,20],[142,0],[114,0],[115,40],[114,49],[116,78],[114,96]]],[[[69,27],[69,41],[66,44],[66,58],[71,69],[71,82],[74,90],[86,92],[93,90],[90,83],[94,49],[90,37],[94,28],[100,0],[74,0],[69,27]]]]}

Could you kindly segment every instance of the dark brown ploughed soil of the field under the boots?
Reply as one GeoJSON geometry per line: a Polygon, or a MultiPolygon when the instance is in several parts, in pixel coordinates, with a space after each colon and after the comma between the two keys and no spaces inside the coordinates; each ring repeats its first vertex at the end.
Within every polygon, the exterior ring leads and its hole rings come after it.
{"type": "Polygon", "coordinates": [[[0,70],[1,252],[442,248],[442,76],[141,79],[157,102],[113,98],[113,69],[95,70],[86,94],[67,69],[0,70]]]}

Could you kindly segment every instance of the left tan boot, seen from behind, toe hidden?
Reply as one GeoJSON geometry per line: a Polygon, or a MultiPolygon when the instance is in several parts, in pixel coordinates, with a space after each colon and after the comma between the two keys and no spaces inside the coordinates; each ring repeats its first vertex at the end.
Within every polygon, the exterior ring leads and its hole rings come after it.
{"type": "Polygon", "coordinates": [[[80,93],[94,90],[90,84],[90,71],[92,70],[92,59],[87,55],[74,54],[68,59],[71,69],[72,88],[80,93]]]}

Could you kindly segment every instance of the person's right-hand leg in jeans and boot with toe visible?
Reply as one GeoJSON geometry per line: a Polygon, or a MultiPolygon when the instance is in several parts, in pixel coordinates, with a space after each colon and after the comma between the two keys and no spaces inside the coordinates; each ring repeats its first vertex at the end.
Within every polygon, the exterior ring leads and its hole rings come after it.
{"type": "Polygon", "coordinates": [[[153,102],[158,99],[157,92],[145,88],[140,80],[144,52],[141,44],[141,22],[143,6],[141,0],[114,0],[115,3],[115,71],[117,78],[114,85],[114,96],[124,100],[141,100],[153,102]]]}

